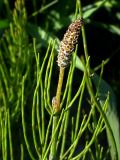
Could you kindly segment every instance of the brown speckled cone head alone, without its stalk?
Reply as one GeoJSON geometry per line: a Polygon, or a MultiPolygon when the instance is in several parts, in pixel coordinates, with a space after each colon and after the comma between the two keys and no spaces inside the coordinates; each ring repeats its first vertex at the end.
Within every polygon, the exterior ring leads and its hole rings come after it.
{"type": "Polygon", "coordinates": [[[80,34],[80,29],[83,26],[83,19],[77,19],[68,27],[67,32],[64,34],[63,40],[60,43],[59,53],[58,53],[58,66],[65,68],[68,66],[71,53],[78,42],[78,37],[80,34]]]}

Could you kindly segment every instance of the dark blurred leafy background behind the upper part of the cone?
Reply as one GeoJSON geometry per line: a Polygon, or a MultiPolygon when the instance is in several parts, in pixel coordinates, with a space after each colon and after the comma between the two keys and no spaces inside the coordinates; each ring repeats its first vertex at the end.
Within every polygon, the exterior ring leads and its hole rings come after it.
{"type": "MultiPolygon", "coordinates": [[[[102,60],[109,59],[104,68],[103,77],[111,84],[116,93],[118,112],[120,112],[120,1],[86,0],[81,3],[91,66],[94,68],[102,60]]],[[[27,12],[25,32],[29,43],[32,43],[32,39],[35,37],[38,50],[44,51],[48,46],[48,39],[51,37],[62,40],[70,22],[75,19],[75,5],[76,2],[71,0],[25,0],[27,12]]],[[[13,22],[14,8],[15,1],[0,1],[1,39],[5,32],[9,31],[10,23],[13,22]]],[[[80,55],[84,54],[82,46],[79,46],[79,52],[80,55]]]]}

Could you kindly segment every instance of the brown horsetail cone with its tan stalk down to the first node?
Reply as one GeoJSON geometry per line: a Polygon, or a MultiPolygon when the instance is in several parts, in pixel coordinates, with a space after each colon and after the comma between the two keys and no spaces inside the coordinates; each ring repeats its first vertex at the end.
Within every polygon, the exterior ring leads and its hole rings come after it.
{"type": "MultiPolygon", "coordinates": [[[[82,25],[83,25],[83,19],[77,19],[75,22],[70,24],[67,32],[63,37],[63,40],[60,43],[58,60],[57,60],[58,66],[60,68],[60,73],[59,73],[59,81],[58,81],[58,87],[57,87],[57,93],[56,93],[56,103],[54,103],[55,101],[53,101],[53,110],[55,112],[60,111],[60,94],[61,94],[61,87],[62,87],[62,82],[64,77],[64,70],[70,63],[71,53],[78,42],[78,37],[79,37],[79,33],[82,25]]],[[[55,97],[54,97],[54,100],[55,100],[55,97]]]]}

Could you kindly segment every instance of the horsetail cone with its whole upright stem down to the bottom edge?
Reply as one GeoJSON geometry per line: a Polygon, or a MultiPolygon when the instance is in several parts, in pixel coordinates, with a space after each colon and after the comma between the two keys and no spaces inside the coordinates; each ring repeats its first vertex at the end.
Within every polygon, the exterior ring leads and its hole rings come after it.
{"type": "MultiPolygon", "coordinates": [[[[57,64],[59,66],[59,80],[57,86],[56,97],[52,99],[53,112],[56,114],[60,112],[60,97],[61,97],[61,89],[64,78],[65,68],[68,66],[71,60],[71,54],[75,49],[75,45],[78,42],[78,37],[80,34],[80,29],[83,26],[83,19],[78,18],[73,23],[70,24],[68,30],[64,34],[63,40],[60,43],[59,51],[58,51],[58,60],[57,64]]],[[[53,128],[52,133],[54,133],[56,125],[58,123],[59,114],[53,117],[53,128]]],[[[56,158],[56,142],[57,142],[57,133],[54,137],[54,141],[51,146],[51,159],[56,158]]]]}

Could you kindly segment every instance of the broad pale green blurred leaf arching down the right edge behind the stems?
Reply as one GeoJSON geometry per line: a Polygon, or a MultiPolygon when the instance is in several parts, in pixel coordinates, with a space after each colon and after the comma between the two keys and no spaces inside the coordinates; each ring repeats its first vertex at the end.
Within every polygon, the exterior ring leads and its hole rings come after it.
{"type": "MultiPolygon", "coordinates": [[[[76,58],[76,68],[80,69],[81,71],[84,71],[84,66],[78,57],[76,58]]],[[[96,73],[94,73],[92,80],[97,88],[98,84],[99,84],[100,77],[96,73]]],[[[108,95],[108,92],[110,93],[110,98],[109,98],[106,116],[108,118],[109,124],[111,126],[112,131],[113,131],[113,135],[115,138],[117,151],[118,151],[118,157],[119,157],[118,159],[120,160],[120,152],[119,152],[119,150],[120,150],[120,125],[119,125],[119,119],[118,119],[118,115],[117,115],[116,97],[115,97],[115,94],[114,94],[112,88],[110,87],[110,85],[108,83],[106,83],[103,79],[101,79],[101,83],[99,85],[99,92],[98,92],[101,106],[104,105],[105,100],[108,95]]],[[[110,147],[111,157],[112,157],[112,160],[114,160],[114,157],[115,157],[114,146],[111,143],[110,134],[109,134],[109,131],[107,128],[106,128],[106,131],[107,131],[107,137],[108,137],[108,143],[109,143],[109,147],[110,147]]]]}

